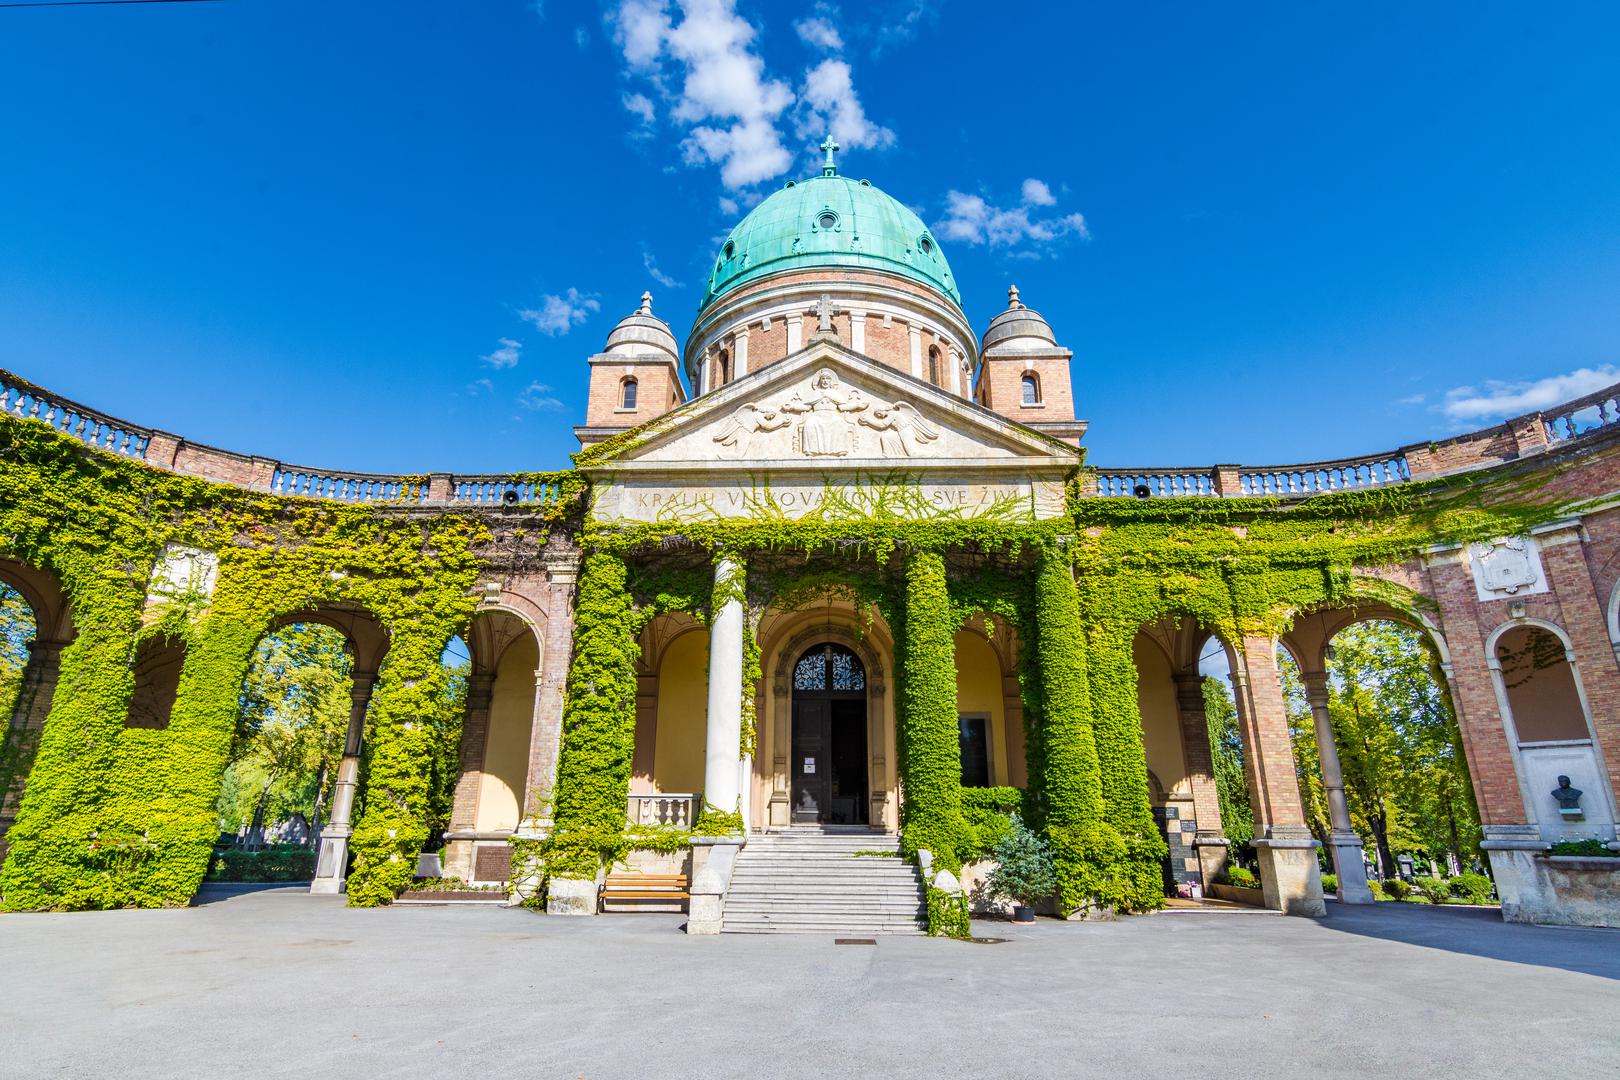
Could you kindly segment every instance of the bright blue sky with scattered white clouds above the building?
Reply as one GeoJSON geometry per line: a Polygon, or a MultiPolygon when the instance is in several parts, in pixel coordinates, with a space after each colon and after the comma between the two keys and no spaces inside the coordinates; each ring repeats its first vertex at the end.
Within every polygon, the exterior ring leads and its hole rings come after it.
{"type": "MultiPolygon", "coordinates": [[[[3,0],[0,0],[3,2],[3,0]]],[[[1620,379],[1620,6],[0,6],[0,366],[361,471],[561,466],[643,288],[813,170],[1016,282],[1098,465],[1281,463],[1620,379]],[[1037,181],[1037,183],[1030,183],[1037,181]]]]}

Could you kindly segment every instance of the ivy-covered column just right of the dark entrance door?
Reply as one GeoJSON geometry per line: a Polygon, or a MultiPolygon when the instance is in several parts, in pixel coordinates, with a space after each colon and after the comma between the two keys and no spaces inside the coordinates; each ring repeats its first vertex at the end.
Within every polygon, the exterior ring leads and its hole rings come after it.
{"type": "Polygon", "coordinates": [[[944,870],[961,870],[972,847],[962,816],[962,746],[956,717],[956,619],[944,559],[915,552],[906,563],[897,695],[901,845],[933,852],[944,870]]]}

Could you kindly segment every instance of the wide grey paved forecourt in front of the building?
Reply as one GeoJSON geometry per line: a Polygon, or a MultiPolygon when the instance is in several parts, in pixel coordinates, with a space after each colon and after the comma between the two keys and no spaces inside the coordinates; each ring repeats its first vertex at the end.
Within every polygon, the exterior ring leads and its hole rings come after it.
{"type": "Polygon", "coordinates": [[[0,916],[11,1077],[1615,1077],[1620,931],[1162,913],[1004,944],[275,889],[0,916]]]}

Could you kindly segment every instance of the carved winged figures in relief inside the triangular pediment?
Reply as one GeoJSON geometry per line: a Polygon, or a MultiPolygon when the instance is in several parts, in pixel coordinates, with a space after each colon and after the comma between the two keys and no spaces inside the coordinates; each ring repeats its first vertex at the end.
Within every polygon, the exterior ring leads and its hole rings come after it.
{"type": "Polygon", "coordinates": [[[770,452],[776,442],[770,432],[784,427],[794,427],[792,452],[812,458],[927,457],[928,444],[940,439],[910,402],[875,405],[823,368],[774,410],[753,402],[739,405],[714,432],[714,442],[739,458],[781,457],[770,452]],[[862,427],[875,432],[875,447],[862,447],[862,427]]]}

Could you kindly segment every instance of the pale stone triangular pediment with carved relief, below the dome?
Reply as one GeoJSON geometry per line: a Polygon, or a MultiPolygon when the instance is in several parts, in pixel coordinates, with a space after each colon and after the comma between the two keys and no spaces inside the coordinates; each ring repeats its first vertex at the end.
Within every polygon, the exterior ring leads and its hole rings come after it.
{"type": "Polygon", "coordinates": [[[1076,465],[1076,447],[833,340],[748,372],[590,461],[616,473],[1076,465]]]}

